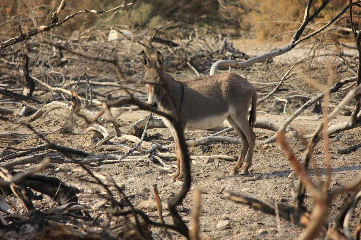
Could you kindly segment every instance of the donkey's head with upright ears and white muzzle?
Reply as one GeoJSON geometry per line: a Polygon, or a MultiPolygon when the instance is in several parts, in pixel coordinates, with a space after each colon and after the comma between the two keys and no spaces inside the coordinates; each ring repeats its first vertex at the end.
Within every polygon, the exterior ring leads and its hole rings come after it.
{"type": "Polygon", "coordinates": [[[148,58],[144,51],[140,53],[140,59],[145,66],[144,80],[147,82],[147,105],[157,108],[158,99],[164,94],[164,89],[161,87],[164,77],[163,71],[163,56],[157,51],[155,58],[148,58]]]}

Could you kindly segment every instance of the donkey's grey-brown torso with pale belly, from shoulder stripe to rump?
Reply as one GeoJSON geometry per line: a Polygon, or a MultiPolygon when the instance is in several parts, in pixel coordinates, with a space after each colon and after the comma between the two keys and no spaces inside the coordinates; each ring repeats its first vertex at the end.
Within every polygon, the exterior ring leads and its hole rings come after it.
{"type": "Polygon", "coordinates": [[[181,80],[179,111],[187,129],[210,129],[232,112],[248,115],[255,89],[242,76],[227,72],[196,80],[181,80]]]}

